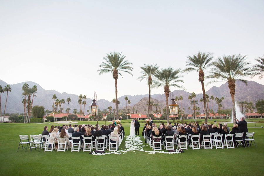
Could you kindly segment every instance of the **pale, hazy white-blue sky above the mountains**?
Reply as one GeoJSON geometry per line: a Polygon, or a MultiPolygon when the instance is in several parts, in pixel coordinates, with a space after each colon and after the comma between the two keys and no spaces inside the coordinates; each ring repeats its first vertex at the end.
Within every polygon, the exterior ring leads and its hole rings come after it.
{"type": "MultiPolygon", "coordinates": [[[[133,76],[122,73],[117,79],[118,97],[148,94],[147,82],[136,79],[144,63],[184,69],[187,56],[201,51],[213,53],[214,60],[247,55],[256,64],[264,54],[263,7],[263,0],[0,0],[0,79],[33,81],[46,90],[88,98],[95,91],[97,99],[111,101],[114,79],[97,70],[106,53],[122,52],[134,70],[133,76]]],[[[187,92],[202,93],[198,72],[181,75],[187,92]]],[[[245,79],[264,84],[258,77],[245,79]]],[[[163,88],[151,90],[163,93],[163,88]]]]}

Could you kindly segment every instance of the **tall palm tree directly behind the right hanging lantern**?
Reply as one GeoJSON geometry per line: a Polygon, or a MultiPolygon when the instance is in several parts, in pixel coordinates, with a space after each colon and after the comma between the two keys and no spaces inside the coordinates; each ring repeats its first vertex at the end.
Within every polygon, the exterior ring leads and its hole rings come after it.
{"type": "Polygon", "coordinates": [[[169,105],[168,105],[168,98],[170,93],[170,86],[179,87],[181,89],[185,89],[184,87],[177,84],[178,82],[184,82],[183,80],[179,79],[180,69],[174,70],[172,67],[168,67],[167,69],[157,70],[155,74],[155,80],[153,81],[153,87],[164,87],[165,97],[166,97],[166,119],[167,123],[169,123],[169,105]]]}

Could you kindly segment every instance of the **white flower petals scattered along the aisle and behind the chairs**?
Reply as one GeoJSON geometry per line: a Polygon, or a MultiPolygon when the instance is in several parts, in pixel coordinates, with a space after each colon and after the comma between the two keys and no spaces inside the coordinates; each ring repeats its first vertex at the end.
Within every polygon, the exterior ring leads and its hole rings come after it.
{"type": "MultiPolygon", "coordinates": [[[[164,151],[148,151],[143,150],[143,141],[140,140],[140,137],[138,136],[127,136],[125,141],[125,149],[126,150],[118,150],[108,153],[95,153],[93,152],[92,155],[108,155],[108,154],[116,154],[116,155],[122,155],[127,153],[128,151],[140,151],[140,152],[148,152],[149,154],[155,154],[155,153],[165,153],[165,154],[177,154],[180,153],[179,150],[176,150],[176,152],[164,152],[164,151]]],[[[136,153],[135,153],[136,154],[136,153]]]]}

